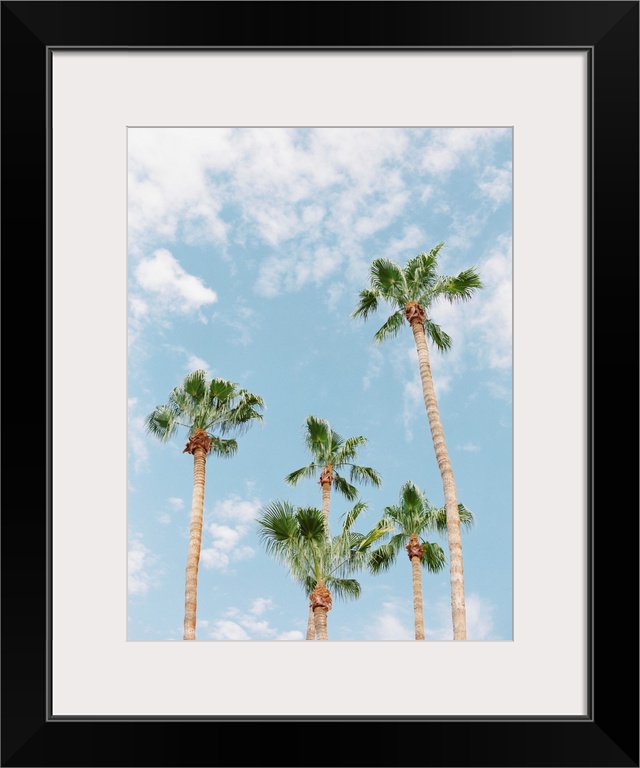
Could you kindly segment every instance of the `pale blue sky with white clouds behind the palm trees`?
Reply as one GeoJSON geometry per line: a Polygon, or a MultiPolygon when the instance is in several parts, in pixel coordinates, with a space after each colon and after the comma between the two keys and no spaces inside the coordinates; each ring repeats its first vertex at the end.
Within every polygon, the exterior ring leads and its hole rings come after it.
{"type": "MultiPolygon", "coordinates": [[[[367,444],[382,476],[359,486],[366,530],[408,480],[444,504],[406,329],[382,345],[384,312],[354,320],[368,269],[437,243],[440,271],[475,267],[484,288],[433,316],[430,348],[463,532],[469,640],[512,640],[512,132],[510,128],[130,128],[128,130],[128,639],[181,640],[193,459],[144,419],[198,368],[265,400],[229,460],[210,457],[197,640],[304,640],[306,598],[269,558],[255,517],[270,501],[321,506],[306,465],[308,415],[367,444]]],[[[334,526],[350,505],[332,494],[334,526]]],[[[447,551],[446,541],[431,537],[447,551]]],[[[357,576],[334,600],[330,640],[410,641],[410,564],[357,576]]],[[[427,640],[452,638],[448,569],[424,573],[427,640]]]]}

